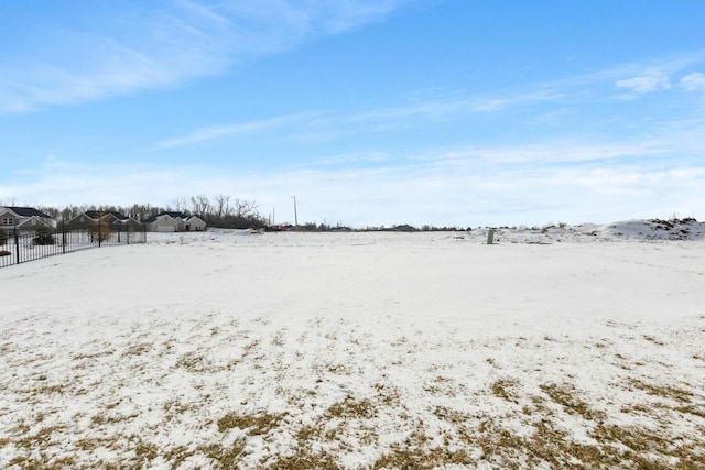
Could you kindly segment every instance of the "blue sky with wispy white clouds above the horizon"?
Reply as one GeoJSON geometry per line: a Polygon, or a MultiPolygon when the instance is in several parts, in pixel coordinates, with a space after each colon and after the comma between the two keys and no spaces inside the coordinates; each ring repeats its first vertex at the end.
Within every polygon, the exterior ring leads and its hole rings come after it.
{"type": "Polygon", "coordinates": [[[0,204],[705,217],[701,0],[9,0],[0,204]]]}

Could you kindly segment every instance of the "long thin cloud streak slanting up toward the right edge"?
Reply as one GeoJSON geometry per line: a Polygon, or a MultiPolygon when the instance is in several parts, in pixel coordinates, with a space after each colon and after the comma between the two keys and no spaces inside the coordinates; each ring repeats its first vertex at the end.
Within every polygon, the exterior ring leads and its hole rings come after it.
{"type": "MultiPolygon", "coordinates": [[[[677,73],[698,64],[702,54],[663,57],[643,64],[627,64],[590,74],[561,80],[524,84],[507,90],[484,95],[471,95],[465,90],[434,91],[432,97],[421,94],[397,106],[362,110],[317,110],[295,114],[271,117],[253,122],[225,123],[192,131],[183,136],[164,140],[159,147],[169,149],[202,143],[232,135],[260,133],[276,128],[272,139],[292,142],[325,142],[346,139],[356,134],[383,133],[399,130],[421,129],[447,122],[473,122],[486,114],[510,113],[518,109],[532,114],[534,122],[543,122],[546,116],[561,116],[565,121],[566,109],[581,107],[584,111],[610,100],[619,101],[614,86],[629,95],[646,95],[655,90],[671,89],[677,73]]],[[[680,88],[697,89],[705,79],[701,74],[684,76],[680,88]]],[[[565,122],[553,119],[554,124],[565,122]]],[[[527,120],[525,122],[529,122],[527,120]]],[[[524,122],[524,123],[525,123],[524,122]]]]}

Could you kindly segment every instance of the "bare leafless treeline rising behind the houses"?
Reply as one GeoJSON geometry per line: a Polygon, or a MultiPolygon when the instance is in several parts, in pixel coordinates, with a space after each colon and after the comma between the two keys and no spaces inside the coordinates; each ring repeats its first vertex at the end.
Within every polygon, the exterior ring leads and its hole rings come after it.
{"type": "Polygon", "coordinates": [[[263,228],[268,221],[258,212],[258,205],[253,200],[232,198],[218,195],[210,199],[198,195],[191,198],[177,198],[172,205],[152,206],[150,204],[133,204],[132,206],[109,205],[69,205],[65,207],[39,206],[37,210],[52,216],[57,221],[68,221],[88,210],[116,211],[138,221],[144,221],[162,212],[182,212],[187,216],[200,217],[208,227],[217,228],[263,228]]]}

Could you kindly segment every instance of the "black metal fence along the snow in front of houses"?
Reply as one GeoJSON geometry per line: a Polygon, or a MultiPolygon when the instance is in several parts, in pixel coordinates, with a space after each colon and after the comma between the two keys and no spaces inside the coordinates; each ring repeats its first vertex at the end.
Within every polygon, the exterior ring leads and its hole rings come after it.
{"type": "Polygon", "coordinates": [[[116,244],[147,242],[144,228],[86,227],[0,231],[0,267],[116,244]]]}

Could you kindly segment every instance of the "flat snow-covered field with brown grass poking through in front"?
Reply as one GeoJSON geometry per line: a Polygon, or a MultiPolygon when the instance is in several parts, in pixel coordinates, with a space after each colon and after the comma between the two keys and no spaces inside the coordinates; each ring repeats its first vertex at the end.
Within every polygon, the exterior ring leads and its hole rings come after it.
{"type": "Polygon", "coordinates": [[[3,267],[0,468],[704,469],[704,226],[486,234],[3,267]]]}

